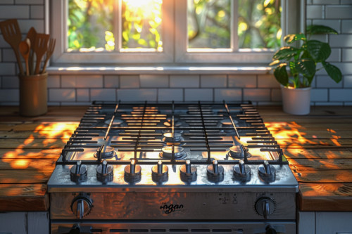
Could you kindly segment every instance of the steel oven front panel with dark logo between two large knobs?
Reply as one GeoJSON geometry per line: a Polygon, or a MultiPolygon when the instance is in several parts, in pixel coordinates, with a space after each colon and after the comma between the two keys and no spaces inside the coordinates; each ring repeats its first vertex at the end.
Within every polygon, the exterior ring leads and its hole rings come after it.
{"type": "MultiPolygon", "coordinates": [[[[51,193],[51,219],[77,219],[77,205],[70,204],[80,193],[51,193]],[[74,209],[72,211],[71,209],[74,209]]],[[[294,220],[295,193],[89,193],[92,201],[82,219],[161,219],[161,220],[265,220],[258,214],[261,204],[269,201],[269,220],[294,220]],[[257,207],[256,207],[257,206],[257,207]],[[89,213],[88,213],[89,212],[89,213]]]]}

